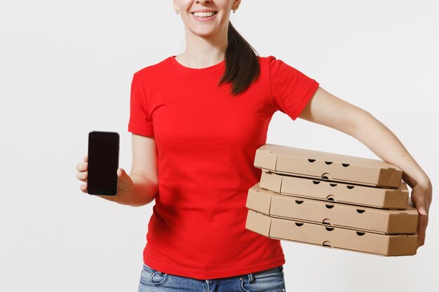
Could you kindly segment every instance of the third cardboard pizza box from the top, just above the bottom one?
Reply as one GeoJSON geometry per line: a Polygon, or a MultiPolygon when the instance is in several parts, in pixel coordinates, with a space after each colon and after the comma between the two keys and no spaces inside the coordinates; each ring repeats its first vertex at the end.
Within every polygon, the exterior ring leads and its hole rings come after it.
{"type": "Polygon", "coordinates": [[[359,207],[280,195],[260,188],[259,183],[248,190],[246,207],[272,217],[381,234],[414,234],[418,224],[412,204],[406,210],[359,207]]]}

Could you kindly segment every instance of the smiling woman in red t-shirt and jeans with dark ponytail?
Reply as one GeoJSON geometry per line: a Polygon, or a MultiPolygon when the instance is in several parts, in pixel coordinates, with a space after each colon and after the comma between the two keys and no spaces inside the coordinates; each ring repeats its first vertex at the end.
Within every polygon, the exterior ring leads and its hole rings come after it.
{"type": "MultiPolygon", "coordinates": [[[[424,244],[432,186],[393,133],[276,57],[259,57],[229,22],[240,0],[173,0],[187,47],[133,76],[130,175],[107,200],[155,200],[139,291],[285,291],[278,240],[245,229],[248,188],[271,116],[283,111],[355,137],[398,165],[424,244]],[[375,141],[381,141],[379,145],[375,141]],[[158,192],[160,190],[160,192],[158,192]]],[[[77,165],[86,182],[87,158],[77,165]]],[[[86,193],[86,183],[81,184],[86,193]]]]}

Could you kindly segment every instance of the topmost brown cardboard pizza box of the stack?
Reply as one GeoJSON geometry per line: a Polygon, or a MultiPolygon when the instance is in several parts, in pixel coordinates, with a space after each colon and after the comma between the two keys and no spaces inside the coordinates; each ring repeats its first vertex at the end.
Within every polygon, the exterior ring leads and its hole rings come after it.
{"type": "Polygon", "coordinates": [[[278,174],[341,181],[365,186],[399,188],[403,171],[382,160],[264,144],[254,166],[278,174]]]}

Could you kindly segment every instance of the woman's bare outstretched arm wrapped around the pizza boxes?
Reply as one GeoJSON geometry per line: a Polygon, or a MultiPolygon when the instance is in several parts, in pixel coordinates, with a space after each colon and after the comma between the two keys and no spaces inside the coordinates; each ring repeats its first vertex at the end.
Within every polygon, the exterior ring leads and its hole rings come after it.
{"type": "Polygon", "coordinates": [[[335,97],[323,88],[318,88],[299,118],[349,134],[379,158],[403,170],[403,180],[412,188],[412,202],[419,214],[418,246],[424,245],[433,187],[427,174],[395,134],[367,111],[335,97]]]}

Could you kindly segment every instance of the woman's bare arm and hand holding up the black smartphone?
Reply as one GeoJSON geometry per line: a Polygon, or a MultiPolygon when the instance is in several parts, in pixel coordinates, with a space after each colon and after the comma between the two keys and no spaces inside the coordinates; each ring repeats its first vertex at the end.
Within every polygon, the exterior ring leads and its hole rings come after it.
{"type": "MultiPolygon", "coordinates": [[[[157,149],[156,141],[152,137],[133,134],[133,163],[130,175],[119,168],[118,190],[115,196],[101,196],[102,198],[126,204],[133,207],[143,206],[152,202],[158,193],[157,149]]],[[[76,165],[77,179],[83,181],[79,187],[87,193],[88,158],[76,165]]]]}

